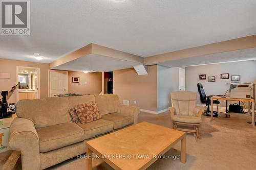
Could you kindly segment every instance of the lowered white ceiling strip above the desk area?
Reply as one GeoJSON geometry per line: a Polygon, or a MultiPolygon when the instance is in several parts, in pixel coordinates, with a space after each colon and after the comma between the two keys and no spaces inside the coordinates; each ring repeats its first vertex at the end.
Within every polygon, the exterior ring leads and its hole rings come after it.
{"type": "Polygon", "coordinates": [[[245,60],[256,60],[256,48],[189,57],[180,60],[165,61],[158,64],[166,67],[184,67],[245,60]]]}

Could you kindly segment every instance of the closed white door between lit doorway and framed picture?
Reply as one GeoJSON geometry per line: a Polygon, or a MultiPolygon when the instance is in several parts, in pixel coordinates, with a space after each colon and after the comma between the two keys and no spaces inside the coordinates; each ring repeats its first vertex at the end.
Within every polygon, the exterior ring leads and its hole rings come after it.
{"type": "Polygon", "coordinates": [[[49,95],[68,93],[68,71],[49,70],[49,95]]]}

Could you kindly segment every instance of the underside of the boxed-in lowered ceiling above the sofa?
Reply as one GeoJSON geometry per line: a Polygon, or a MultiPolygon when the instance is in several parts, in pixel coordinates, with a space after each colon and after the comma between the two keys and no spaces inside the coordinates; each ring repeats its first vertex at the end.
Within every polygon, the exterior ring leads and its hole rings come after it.
{"type": "Polygon", "coordinates": [[[53,67],[53,69],[71,71],[113,71],[118,69],[131,68],[138,64],[141,63],[90,54],[88,56],[80,57],[57,67],[53,67]]]}

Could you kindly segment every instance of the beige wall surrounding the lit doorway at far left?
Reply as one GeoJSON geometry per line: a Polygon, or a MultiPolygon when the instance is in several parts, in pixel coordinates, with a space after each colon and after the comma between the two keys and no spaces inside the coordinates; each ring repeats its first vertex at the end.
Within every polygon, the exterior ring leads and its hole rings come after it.
{"type": "MultiPolygon", "coordinates": [[[[9,73],[10,79],[0,79],[0,91],[10,90],[12,86],[16,85],[16,66],[39,67],[40,68],[40,98],[48,96],[48,69],[49,64],[0,59],[0,72],[9,73]]],[[[10,103],[16,102],[16,91],[8,100],[10,103]]]]}

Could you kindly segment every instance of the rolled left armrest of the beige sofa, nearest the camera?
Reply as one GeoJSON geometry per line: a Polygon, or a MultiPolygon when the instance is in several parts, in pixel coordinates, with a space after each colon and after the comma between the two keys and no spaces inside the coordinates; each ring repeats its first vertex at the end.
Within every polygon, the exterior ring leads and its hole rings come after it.
{"type": "Polygon", "coordinates": [[[40,169],[39,138],[31,120],[14,118],[9,130],[8,145],[20,151],[22,169],[40,169]]]}

